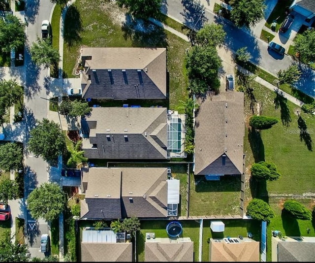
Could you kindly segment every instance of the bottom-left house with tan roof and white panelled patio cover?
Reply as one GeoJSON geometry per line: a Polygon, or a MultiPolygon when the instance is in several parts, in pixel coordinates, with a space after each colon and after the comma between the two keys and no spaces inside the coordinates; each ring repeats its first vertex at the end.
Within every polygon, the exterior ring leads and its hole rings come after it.
{"type": "Polygon", "coordinates": [[[132,243],[110,229],[82,230],[81,262],[132,262],[132,243]]]}

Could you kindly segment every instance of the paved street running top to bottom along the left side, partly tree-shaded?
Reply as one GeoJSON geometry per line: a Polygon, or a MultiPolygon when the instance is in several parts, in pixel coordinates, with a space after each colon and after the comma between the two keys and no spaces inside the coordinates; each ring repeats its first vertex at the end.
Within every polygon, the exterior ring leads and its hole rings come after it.
{"type": "MultiPolygon", "coordinates": [[[[47,118],[48,100],[40,99],[39,97],[47,98],[45,87],[47,86],[48,70],[36,67],[30,58],[29,48],[37,36],[41,36],[42,20],[49,20],[53,3],[50,0],[26,0],[25,18],[27,22],[27,48],[25,50],[25,122],[26,122],[26,142],[29,138],[29,131],[35,124],[35,120],[47,118]],[[36,98],[33,98],[36,97],[36,98]]],[[[26,148],[25,148],[26,149],[26,148]]],[[[48,164],[42,158],[35,158],[32,153],[25,150],[25,176],[24,188],[27,197],[32,189],[40,184],[48,181],[48,164]]],[[[30,213],[25,211],[25,230],[26,242],[29,246],[32,257],[43,258],[45,255],[39,251],[40,236],[43,233],[48,233],[48,224],[44,220],[35,221],[30,213]]]]}

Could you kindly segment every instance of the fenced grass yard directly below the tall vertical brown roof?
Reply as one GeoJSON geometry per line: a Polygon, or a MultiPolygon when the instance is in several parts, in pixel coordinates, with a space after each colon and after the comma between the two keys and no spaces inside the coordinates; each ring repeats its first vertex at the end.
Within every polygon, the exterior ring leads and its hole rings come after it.
{"type": "Polygon", "coordinates": [[[241,175],[207,181],[204,176],[191,173],[189,216],[240,215],[240,191],[241,175]]]}

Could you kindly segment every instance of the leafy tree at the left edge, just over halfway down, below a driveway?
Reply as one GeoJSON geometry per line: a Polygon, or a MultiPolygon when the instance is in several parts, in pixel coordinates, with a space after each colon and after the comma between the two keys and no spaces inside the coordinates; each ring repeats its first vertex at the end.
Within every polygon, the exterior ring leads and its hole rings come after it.
{"type": "Polygon", "coordinates": [[[18,170],[22,167],[23,147],[17,142],[0,144],[0,169],[4,171],[18,170]]]}

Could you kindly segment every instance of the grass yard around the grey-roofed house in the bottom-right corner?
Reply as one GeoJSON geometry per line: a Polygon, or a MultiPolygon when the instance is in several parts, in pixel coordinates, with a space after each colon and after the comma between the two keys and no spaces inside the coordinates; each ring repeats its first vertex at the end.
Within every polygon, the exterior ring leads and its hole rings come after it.
{"type": "MultiPolygon", "coordinates": [[[[299,220],[290,217],[283,210],[283,201],[279,199],[279,203],[271,203],[270,206],[274,210],[276,216],[267,225],[267,262],[271,262],[271,231],[280,230],[284,236],[315,236],[314,226],[311,220],[299,220]],[[310,233],[307,233],[310,229],[310,233]]],[[[296,199],[301,202],[301,200],[296,199]]],[[[307,208],[312,208],[308,203],[304,203],[307,208]]],[[[314,203],[313,203],[314,205],[314,203]]]]}

